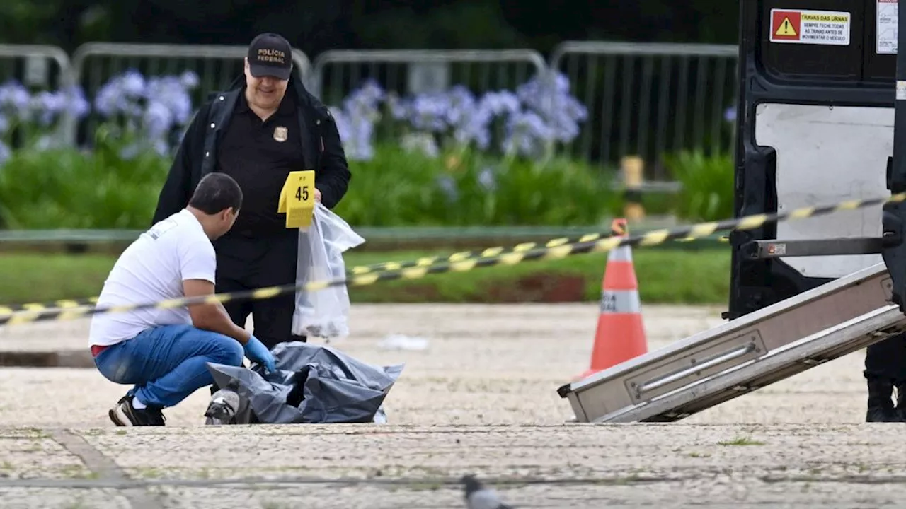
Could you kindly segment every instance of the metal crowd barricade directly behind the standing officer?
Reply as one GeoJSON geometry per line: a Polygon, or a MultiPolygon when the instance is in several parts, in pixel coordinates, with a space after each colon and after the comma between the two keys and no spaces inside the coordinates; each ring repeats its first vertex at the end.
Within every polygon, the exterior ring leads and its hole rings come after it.
{"type": "MultiPolygon", "coordinates": [[[[198,75],[192,98],[198,108],[208,94],[224,90],[242,74],[247,52],[243,45],[86,43],[73,53],[72,79],[93,98],[105,82],[129,69],[146,76],[191,71],[198,75]]],[[[295,72],[307,81],[312,68],[308,57],[294,50],[293,62],[295,72]]],[[[86,128],[92,130],[95,122],[89,120],[86,128]]]]}

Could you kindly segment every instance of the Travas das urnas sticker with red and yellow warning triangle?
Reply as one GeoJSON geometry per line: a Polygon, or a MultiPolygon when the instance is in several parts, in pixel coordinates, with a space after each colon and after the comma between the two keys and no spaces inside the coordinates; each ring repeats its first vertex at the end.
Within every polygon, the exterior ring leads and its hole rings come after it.
{"type": "Polygon", "coordinates": [[[771,9],[770,41],[848,46],[851,24],[846,12],[771,9]]]}

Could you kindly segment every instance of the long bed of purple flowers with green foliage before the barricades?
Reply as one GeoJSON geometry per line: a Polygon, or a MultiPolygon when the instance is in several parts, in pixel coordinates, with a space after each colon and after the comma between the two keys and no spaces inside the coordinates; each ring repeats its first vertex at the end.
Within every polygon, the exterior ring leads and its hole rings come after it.
{"type": "MultiPolygon", "coordinates": [[[[0,226],[148,226],[198,79],[191,72],[147,78],[134,70],[114,77],[91,103],[77,87],[32,93],[16,82],[0,85],[16,100],[0,112],[0,226]],[[75,119],[92,111],[106,122],[87,144],[91,151],[60,147],[49,136],[64,111],[75,119]]],[[[480,97],[459,86],[404,98],[388,92],[365,82],[332,107],[353,174],[337,212],[352,225],[594,228],[621,214],[612,168],[555,155],[588,114],[564,76],[480,97]],[[377,125],[392,136],[376,140],[377,125]]],[[[699,152],[669,157],[682,193],[646,194],[642,202],[650,215],[731,216],[732,164],[699,152]]]]}

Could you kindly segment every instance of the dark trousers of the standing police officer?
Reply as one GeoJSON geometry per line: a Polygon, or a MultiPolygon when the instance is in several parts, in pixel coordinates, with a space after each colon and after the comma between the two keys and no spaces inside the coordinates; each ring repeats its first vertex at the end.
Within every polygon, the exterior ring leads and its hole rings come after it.
{"type": "MultiPolygon", "coordinates": [[[[217,293],[241,292],[265,286],[295,284],[299,231],[246,236],[230,232],[214,244],[217,250],[217,293]]],[[[230,319],[246,326],[248,315],[255,321],[253,333],[268,349],[285,341],[306,341],[293,328],[295,293],[264,300],[224,303],[230,319]]]]}

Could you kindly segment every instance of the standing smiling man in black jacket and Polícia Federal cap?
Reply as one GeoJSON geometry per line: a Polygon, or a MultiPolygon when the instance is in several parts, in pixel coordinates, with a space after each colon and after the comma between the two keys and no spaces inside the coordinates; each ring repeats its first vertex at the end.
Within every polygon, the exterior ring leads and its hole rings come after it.
{"type": "MultiPolygon", "coordinates": [[[[291,171],[315,170],[314,199],[333,208],[352,177],[330,111],[293,75],[293,49],[277,34],[249,45],[245,76],[198,110],[160,190],[153,222],[181,210],[198,180],[211,172],[236,179],[245,197],[242,214],[215,243],[217,293],[294,284],[298,229],[277,214],[291,171]]],[[[305,341],[291,333],[295,298],[225,303],[236,325],[255,321],[255,337],[271,349],[305,341]]]]}

